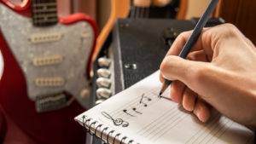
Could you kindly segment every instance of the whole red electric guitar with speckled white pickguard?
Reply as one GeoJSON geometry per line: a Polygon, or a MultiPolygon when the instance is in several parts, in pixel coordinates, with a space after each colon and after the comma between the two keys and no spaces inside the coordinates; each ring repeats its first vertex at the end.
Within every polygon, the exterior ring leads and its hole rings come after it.
{"type": "Polygon", "coordinates": [[[58,18],[55,0],[0,0],[0,103],[38,143],[84,143],[73,118],[90,107],[96,37],[88,15],[58,18]]]}

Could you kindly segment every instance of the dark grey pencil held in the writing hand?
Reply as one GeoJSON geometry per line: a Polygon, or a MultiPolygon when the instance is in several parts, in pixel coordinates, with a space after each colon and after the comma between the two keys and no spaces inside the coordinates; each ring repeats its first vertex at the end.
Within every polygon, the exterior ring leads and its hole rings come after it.
{"type": "MultiPolygon", "coordinates": [[[[189,54],[190,49],[193,47],[195,42],[197,41],[198,37],[201,34],[201,30],[204,26],[207,24],[207,20],[212,15],[212,11],[215,9],[216,5],[218,4],[218,0],[212,0],[209,5],[207,6],[207,9],[205,10],[204,14],[202,14],[200,20],[197,22],[194,31],[190,35],[188,41],[183,46],[182,51],[179,53],[179,57],[182,57],[183,59],[186,59],[187,55],[189,54]]],[[[163,94],[163,92],[167,89],[167,87],[172,83],[172,81],[165,79],[164,84],[162,85],[162,88],[160,89],[159,96],[163,94]]]]}

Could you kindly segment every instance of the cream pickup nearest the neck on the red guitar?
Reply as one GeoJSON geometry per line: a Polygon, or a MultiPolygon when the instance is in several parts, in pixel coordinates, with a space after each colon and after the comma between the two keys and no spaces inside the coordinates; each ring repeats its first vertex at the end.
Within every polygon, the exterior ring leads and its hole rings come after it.
{"type": "Polygon", "coordinates": [[[47,43],[47,42],[55,42],[60,40],[62,37],[61,33],[44,33],[44,34],[34,34],[30,38],[28,38],[31,43],[47,43]]]}

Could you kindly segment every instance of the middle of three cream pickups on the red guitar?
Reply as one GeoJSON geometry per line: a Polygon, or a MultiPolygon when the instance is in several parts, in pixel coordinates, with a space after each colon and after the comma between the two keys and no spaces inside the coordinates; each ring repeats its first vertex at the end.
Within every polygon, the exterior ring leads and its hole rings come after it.
{"type": "Polygon", "coordinates": [[[41,58],[35,58],[34,60],[32,60],[32,64],[34,66],[55,65],[61,63],[63,59],[64,58],[62,55],[51,55],[41,58]]]}

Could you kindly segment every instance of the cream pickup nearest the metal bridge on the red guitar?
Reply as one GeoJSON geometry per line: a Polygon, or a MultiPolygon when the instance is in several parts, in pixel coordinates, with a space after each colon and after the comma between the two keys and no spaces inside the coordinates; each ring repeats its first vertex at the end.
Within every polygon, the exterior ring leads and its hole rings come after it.
{"type": "Polygon", "coordinates": [[[53,78],[36,78],[35,84],[38,87],[58,87],[65,84],[64,78],[53,77],[53,78]]]}

